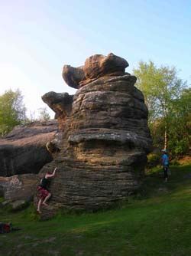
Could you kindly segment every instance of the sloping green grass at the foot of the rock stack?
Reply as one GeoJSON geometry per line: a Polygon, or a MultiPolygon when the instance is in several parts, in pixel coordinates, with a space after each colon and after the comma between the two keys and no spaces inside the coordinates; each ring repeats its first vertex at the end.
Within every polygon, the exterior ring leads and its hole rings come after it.
{"type": "MultiPolygon", "coordinates": [[[[161,171],[161,170],[160,170],[161,171]]],[[[172,166],[168,183],[148,172],[136,198],[105,212],[57,215],[40,222],[32,207],[2,222],[21,227],[0,235],[0,255],[191,255],[191,165],[172,166]]]]}

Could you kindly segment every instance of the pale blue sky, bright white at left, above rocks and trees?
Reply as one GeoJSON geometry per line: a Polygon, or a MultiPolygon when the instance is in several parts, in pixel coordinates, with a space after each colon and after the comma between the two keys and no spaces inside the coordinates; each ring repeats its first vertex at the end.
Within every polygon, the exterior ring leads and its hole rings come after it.
{"type": "Polygon", "coordinates": [[[0,0],[0,94],[20,88],[28,113],[50,90],[74,94],[63,64],[113,52],[128,60],[176,66],[190,84],[191,1],[0,0]]]}

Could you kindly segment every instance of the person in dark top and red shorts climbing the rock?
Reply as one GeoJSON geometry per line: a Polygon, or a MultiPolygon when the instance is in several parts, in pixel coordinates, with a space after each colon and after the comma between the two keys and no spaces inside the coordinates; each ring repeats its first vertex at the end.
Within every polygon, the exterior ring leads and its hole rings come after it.
{"type": "Polygon", "coordinates": [[[50,179],[55,176],[57,167],[53,170],[53,173],[47,172],[43,179],[40,180],[37,190],[40,192],[40,199],[37,203],[37,212],[41,213],[40,206],[47,205],[47,200],[50,199],[51,193],[47,190],[47,186],[50,183],[50,179]]]}

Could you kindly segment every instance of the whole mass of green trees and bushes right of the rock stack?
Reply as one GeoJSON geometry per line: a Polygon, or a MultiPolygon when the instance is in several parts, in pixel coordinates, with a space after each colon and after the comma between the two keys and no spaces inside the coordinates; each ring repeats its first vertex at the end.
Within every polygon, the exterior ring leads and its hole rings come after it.
{"type": "Polygon", "coordinates": [[[152,61],[141,61],[134,74],[149,110],[154,146],[167,147],[173,157],[188,153],[191,94],[186,82],[177,77],[175,67],[156,67],[152,61]]]}

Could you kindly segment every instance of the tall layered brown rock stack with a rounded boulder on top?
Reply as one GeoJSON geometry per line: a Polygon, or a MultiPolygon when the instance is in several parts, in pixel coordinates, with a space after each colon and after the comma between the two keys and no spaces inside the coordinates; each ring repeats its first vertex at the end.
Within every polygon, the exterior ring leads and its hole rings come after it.
{"type": "MultiPolygon", "coordinates": [[[[50,185],[51,208],[44,215],[57,208],[105,208],[127,199],[141,184],[152,142],[144,97],[134,87],[136,77],[125,73],[127,66],[114,54],[86,60],[85,78],[78,80],[83,86],[64,116],[60,153],[41,170],[43,174],[58,167],[50,185]],[[88,79],[92,81],[86,84],[88,79]]],[[[53,94],[45,95],[55,109],[53,94]]]]}

